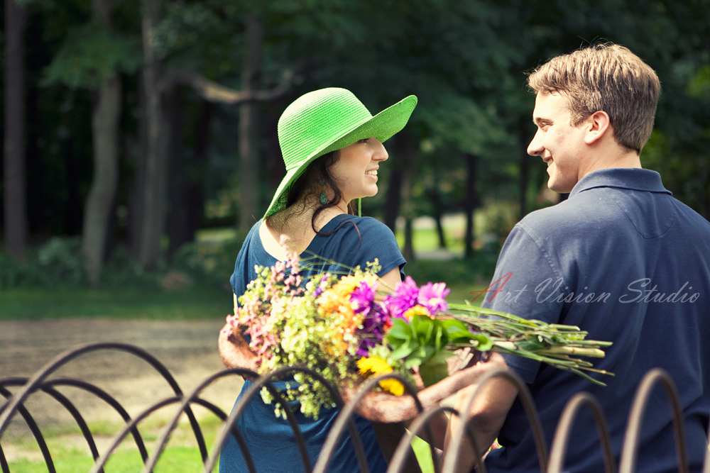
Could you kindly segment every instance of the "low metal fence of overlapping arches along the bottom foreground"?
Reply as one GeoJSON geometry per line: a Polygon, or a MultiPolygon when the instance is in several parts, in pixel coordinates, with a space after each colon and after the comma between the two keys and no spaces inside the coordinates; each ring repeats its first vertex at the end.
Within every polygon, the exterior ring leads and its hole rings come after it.
{"type": "MultiPolygon", "coordinates": [[[[419,399],[417,399],[417,389],[415,388],[415,386],[412,386],[405,379],[398,376],[397,374],[387,374],[381,377],[368,379],[368,381],[364,384],[364,386],[354,397],[354,399],[351,399],[347,404],[344,403],[342,396],[340,396],[337,389],[335,389],[332,385],[326,382],[319,374],[311,371],[310,369],[305,369],[302,367],[286,367],[283,369],[279,369],[277,372],[274,372],[265,377],[258,377],[256,373],[244,369],[226,369],[222,372],[213,374],[211,377],[208,377],[190,393],[183,394],[182,390],[180,389],[180,386],[178,386],[178,383],[175,382],[175,378],[172,374],[170,374],[168,369],[166,369],[162,363],[160,363],[157,359],[155,359],[155,357],[153,357],[145,350],[124,343],[94,343],[89,345],[80,345],[70,350],[67,350],[66,352],[58,355],[53,360],[48,362],[47,365],[45,365],[38,372],[35,372],[35,374],[33,374],[33,376],[30,378],[12,377],[0,379],[0,395],[4,396],[4,398],[6,399],[5,403],[0,406],[0,468],[2,469],[3,473],[10,472],[9,464],[2,450],[2,437],[6,432],[6,429],[8,428],[9,423],[11,422],[13,417],[19,415],[23,418],[24,422],[31,430],[31,433],[36,440],[40,452],[43,455],[48,472],[55,473],[55,465],[47,442],[43,437],[43,434],[40,431],[40,428],[38,427],[37,423],[33,419],[33,416],[28,411],[28,408],[25,406],[25,403],[30,396],[32,396],[38,391],[43,391],[45,394],[48,394],[49,396],[53,397],[53,399],[58,401],[67,410],[67,412],[70,413],[70,415],[80,428],[82,434],[84,435],[84,438],[86,439],[87,447],[89,448],[89,451],[91,452],[91,455],[94,458],[94,466],[90,470],[91,473],[103,472],[103,468],[106,462],[115,452],[116,448],[129,435],[132,436],[133,441],[136,444],[136,448],[138,449],[138,452],[140,452],[141,458],[143,460],[142,472],[152,472],[156,462],[158,462],[158,459],[160,458],[160,455],[163,453],[163,450],[165,450],[165,446],[167,445],[168,440],[170,439],[170,434],[173,433],[173,430],[175,430],[176,426],[178,425],[178,421],[180,419],[180,416],[182,416],[182,413],[185,413],[185,415],[187,416],[190,422],[190,427],[192,428],[192,433],[194,433],[195,435],[195,442],[197,443],[197,447],[200,450],[200,455],[202,456],[204,472],[211,472],[214,468],[214,465],[217,462],[219,451],[222,449],[222,444],[226,440],[227,435],[234,435],[237,445],[241,447],[249,471],[256,472],[249,450],[246,447],[246,444],[244,443],[244,438],[242,437],[241,433],[239,433],[239,430],[234,427],[234,425],[236,423],[236,420],[244,411],[244,407],[254,396],[257,396],[260,393],[263,387],[266,387],[266,389],[271,392],[276,401],[283,401],[283,399],[281,399],[278,393],[278,390],[275,389],[272,381],[273,379],[278,379],[279,377],[283,377],[284,375],[288,374],[293,374],[295,372],[305,372],[310,376],[319,379],[320,382],[322,382],[325,386],[328,386],[337,406],[341,408],[339,416],[337,417],[333,428],[327,437],[327,440],[321,450],[315,467],[311,468],[311,463],[305,447],[303,436],[300,431],[300,428],[297,425],[297,422],[295,421],[295,416],[293,412],[290,411],[290,409],[288,408],[288,404],[281,403],[284,408],[286,418],[288,419],[288,422],[293,428],[293,438],[300,451],[303,468],[305,472],[308,473],[324,473],[327,471],[333,452],[338,445],[339,438],[344,435],[344,431],[346,429],[349,429],[349,432],[351,434],[354,449],[356,451],[356,455],[359,462],[360,471],[368,472],[368,466],[363,446],[359,438],[358,431],[355,427],[355,423],[353,421],[353,413],[355,411],[355,406],[358,401],[369,391],[374,389],[377,386],[378,382],[382,379],[395,378],[402,382],[405,385],[405,394],[414,396],[415,404],[417,405],[417,408],[420,411],[420,416],[418,416],[417,419],[412,423],[412,425],[410,425],[409,433],[405,435],[405,437],[400,441],[398,447],[396,448],[387,470],[388,473],[405,471],[405,465],[407,464],[408,456],[411,455],[412,452],[410,444],[415,435],[420,435],[424,438],[433,438],[432,432],[430,430],[430,419],[432,417],[437,416],[442,412],[448,412],[452,416],[459,415],[459,413],[454,408],[447,406],[435,407],[424,411],[422,409],[422,405],[419,402],[419,399]],[[100,389],[98,386],[83,382],[80,379],[51,378],[54,372],[56,372],[60,367],[71,362],[76,357],[87,354],[89,352],[97,352],[99,350],[120,350],[123,352],[129,352],[131,355],[145,360],[155,369],[156,372],[158,372],[165,379],[166,382],[168,382],[168,385],[170,386],[170,389],[172,390],[172,393],[174,395],[168,397],[167,399],[163,399],[162,401],[159,401],[153,404],[152,406],[149,406],[143,412],[139,413],[138,416],[131,418],[131,416],[129,416],[129,413],[123,406],[121,406],[119,401],[114,399],[114,397],[109,395],[106,391],[100,389]],[[235,375],[247,375],[258,379],[256,379],[253,385],[245,392],[244,396],[242,396],[241,401],[239,402],[239,405],[237,405],[234,410],[231,411],[229,416],[227,416],[221,408],[215,406],[209,401],[205,401],[204,399],[200,398],[200,394],[202,394],[202,391],[204,391],[204,389],[206,389],[209,385],[211,385],[218,379],[235,375]],[[100,399],[105,404],[107,404],[107,406],[114,409],[116,413],[118,413],[119,416],[123,418],[125,422],[124,426],[119,430],[118,433],[116,433],[103,455],[99,455],[99,451],[94,441],[94,435],[92,434],[91,430],[89,430],[87,422],[82,417],[82,414],[80,413],[79,409],[77,409],[77,406],[75,406],[75,404],[72,404],[72,401],[70,401],[70,399],[68,399],[60,391],[58,391],[58,388],[62,386],[73,386],[74,388],[81,389],[89,394],[92,394],[93,396],[96,396],[97,399],[100,399]],[[14,393],[9,388],[13,388],[14,393]],[[155,443],[155,447],[153,448],[153,452],[149,454],[148,450],[146,449],[146,445],[143,441],[143,437],[141,436],[139,424],[145,418],[150,416],[151,413],[158,411],[158,409],[160,408],[164,408],[165,406],[170,405],[175,406],[173,416],[170,417],[170,420],[160,433],[155,443]],[[199,405],[204,408],[207,408],[209,411],[214,413],[215,416],[224,421],[224,427],[217,434],[217,438],[214,440],[214,445],[212,445],[211,450],[208,450],[207,445],[204,441],[202,428],[197,422],[195,414],[192,412],[192,406],[194,405],[199,405]]],[[[606,419],[604,417],[604,413],[601,410],[601,406],[599,405],[599,401],[597,401],[594,396],[591,396],[591,394],[585,392],[580,392],[579,394],[573,396],[572,399],[567,402],[567,406],[565,406],[564,411],[562,412],[562,416],[559,418],[555,437],[552,440],[550,454],[548,455],[545,435],[542,431],[542,427],[540,425],[540,418],[537,414],[535,404],[532,401],[532,396],[530,395],[528,386],[514,373],[505,372],[503,370],[488,373],[488,375],[486,375],[486,377],[481,380],[481,385],[486,382],[486,379],[491,379],[493,377],[504,377],[510,380],[510,382],[513,382],[513,384],[515,384],[516,386],[518,386],[520,392],[518,396],[520,396],[520,401],[522,402],[523,407],[525,408],[525,412],[528,415],[528,420],[530,421],[530,428],[535,439],[535,445],[537,447],[537,458],[540,464],[541,472],[559,473],[563,471],[564,457],[565,452],[567,450],[567,445],[569,443],[569,435],[572,431],[572,426],[574,425],[575,418],[577,418],[577,415],[581,411],[581,409],[584,408],[589,408],[591,410],[591,413],[593,414],[594,420],[596,422],[596,428],[599,434],[599,445],[604,460],[605,472],[615,473],[617,471],[616,462],[612,454],[611,439],[609,437],[608,429],[606,427],[606,419]]],[[[643,421],[645,409],[648,404],[648,399],[650,397],[652,389],[657,386],[657,384],[661,384],[665,388],[665,392],[670,401],[673,416],[678,471],[680,473],[688,472],[683,415],[681,406],[679,404],[679,396],[676,386],[674,385],[671,377],[667,374],[667,372],[663,371],[662,369],[652,369],[645,375],[642,382],[639,384],[635,394],[635,398],[633,400],[633,404],[629,414],[625,440],[621,450],[621,460],[618,465],[618,471],[620,473],[631,473],[635,471],[635,462],[638,455],[638,439],[640,437],[639,433],[641,423],[643,421]]],[[[480,389],[481,388],[479,386],[479,389],[476,392],[471,393],[469,398],[466,399],[467,404],[464,404],[464,406],[471,405],[473,403],[474,397],[480,389]]],[[[464,409],[464,412],[468,411],[469,409],[464,409]]],[[[479,446],[476,445],[476,438],[473,435],[471,429],[472,428],[469,422],[461,423],[458,432],[453,433],[454,435],[452,435],[452,443],[450,443],[449,448],[447,449],[447,458],[443,459],[444,473],[454,472],[456,468],[459,450],[461,448],[472,448],[476,457],[480,457],[481,451],[479,446]]],[[[437,455],[435,455],[435,449],[433,446],[432,458],[437,459],[437,455]]],[[[434,461],[434,467],[435,472],[439,473],[442,471],[442,468],[437,460],[434,461]]],[[[485,465],[479,464],[477,471],[485,473],[485,465]]],[[[706,450],[703,473],[710,473],[710,445],[709,449],[706,450]]]]}

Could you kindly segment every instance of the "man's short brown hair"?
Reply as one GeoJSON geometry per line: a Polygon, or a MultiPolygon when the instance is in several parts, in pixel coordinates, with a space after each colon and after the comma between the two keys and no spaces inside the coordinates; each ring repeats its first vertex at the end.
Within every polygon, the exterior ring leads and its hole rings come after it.
{"type": "Polygon", "coordinates": [[[608,113],[616,143],[641,152],[653,129],[661,90],[655,71],[623,46],[590,45],[553,57],[528,77],[535,93],[567,96],[572,125],[608,113]]]}

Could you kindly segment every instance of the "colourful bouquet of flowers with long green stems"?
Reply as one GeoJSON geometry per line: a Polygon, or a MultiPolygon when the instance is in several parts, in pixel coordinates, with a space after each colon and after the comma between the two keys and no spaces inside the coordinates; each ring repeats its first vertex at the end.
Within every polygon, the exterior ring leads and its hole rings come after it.
{"type": "MultiPolygon", "coordinates": [[[[304,280],[304,269],[337,264],[314,257],[288,260],[273,267],[256,267],[257,277],[239,298],[231,331],[249,340],[260,364],[259,373],[301,365],[320,372],[335,385],[354,387],[366,377],[396,372],[413,379],[414,369],[425,386],[447,377],[447,358],[469,348],[512,353],[580,374],[594,369],[577,356],[603,357],[611,343],[584,340],[586,332],[569,325],[552,325],[470,305],[447,304],[444,283],[417,286],[411,277],[390,294],[378,292],[378,261],[350,273],[317,273],[304,280]],[[305,283],[305,284],[303,284],[305,283]]],[[[329,391],[307,375],[296,373],[286,382],[285,401],[298,401],[307,416],[334,406],[329,391]]],[[[395,379],[380,383],[395,396],[404,386],[395,379]]],[[[266,389],[263,400],[273,401],[266,389]]],[[[276,413],[282,413],[276,406],[276,413]]]]}

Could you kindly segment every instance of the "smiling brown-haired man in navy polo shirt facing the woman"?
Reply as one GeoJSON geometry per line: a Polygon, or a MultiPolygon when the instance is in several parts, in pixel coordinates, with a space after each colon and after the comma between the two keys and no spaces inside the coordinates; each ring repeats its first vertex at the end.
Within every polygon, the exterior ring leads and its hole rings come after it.
{"type": "MultiPolygon", "coordinates": [[[[547,164],[548,187],[569,192],[561,204],[530,213],[511,231],[484,306],[548,323],[577,325],[609,340],[593,374],[608,386],[522,357],[506,362],[528,383],[547,446],[564,405],[578,391],[599,399],[616,461],[635,389],[662,367],[677,384],[689,465],[700,472],[710,413],[710,223],[673,199],[640,152],[655,116],[660,82],[618,45],[592,45],[555,57],[528,78],[537,94],[537,133],[528,154],[547,164]],[[508,279],[508,275],[510,278],[508,279]],[[493,292],[493,290],[500,290],[493,292]]],[[[459,391],[458,406],[474,389],[459,391]]],[[[537,472],[535,445],[509,382],[486,386],[471,415],[479,441],[503,446],[486,457],[489,472],[537,472]]],[[[588,410],[575,421],[565,470],[601,472],[588,410]]],[[[449,425],[449,438],[457,421],[449,425]]],[[[657,386],[640,433],[637,469],[677,471],[671,408],[657,386]]],[[[463,458],[462,471],[474,459],[463,458]]]]}

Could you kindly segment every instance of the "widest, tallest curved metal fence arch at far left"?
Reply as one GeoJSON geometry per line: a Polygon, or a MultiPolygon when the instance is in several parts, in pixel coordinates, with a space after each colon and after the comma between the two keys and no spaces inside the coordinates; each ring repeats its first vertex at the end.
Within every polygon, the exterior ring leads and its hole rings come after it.
{"type": "MultiPolygon", "coordinates": [[[[175,378],[173,378],[173,375],[170,374],[165,365],[159,362],[158,359],[153,357],[153,355],[148,353],[146,350],[127,343],[87,343],[85,345],[70,348],[69,350],[66,350],[65,352],[62,352],[54,357],[50,360],[50,362],[40,368],[38,372],[35,372],[35,374],[33,374],[33,376],[28,380],[27,384],[25,384],[22,389],[12,396],[12,399],[9,401],[9,405],[6,406],[3,413],[0,415],[0,438],[2,438],[7,425],[9,425],[9,421],[11,421],[17,411],[17,406],[23,404],[27,397],[35,391],[35,389],[37,389],[46,377],[70,360],[73,360],[80,355],[84,355],[84,353],[97,350],[120,350],[136,355],[142,360],[148,362],[149,365],[158,371],[158,373],[163,376],[165,381],[168,382],[176,395],[182,396],[180,386],[178,386],[178,383],[175,381],[175,378]]],[[[190,420],[190,425],[192,425],[192,431],[195,433],[197,445],[200,447],[202,460],[204,461],[204,459],[207,458],[207,445],[204,443],[204,437],[202,435],[202,430],[200,430],[200,424],[197,423],[197,418],[195,418],[195,415],[189,410],[189,408],[186,413],[187,418],[190,420]]]]}

